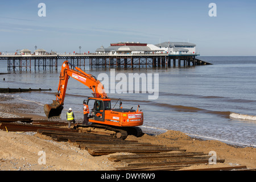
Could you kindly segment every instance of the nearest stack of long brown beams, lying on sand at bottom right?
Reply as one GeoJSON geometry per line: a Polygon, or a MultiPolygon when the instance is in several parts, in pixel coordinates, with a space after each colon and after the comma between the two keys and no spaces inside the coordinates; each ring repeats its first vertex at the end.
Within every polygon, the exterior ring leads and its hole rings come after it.
{"type": "MultiPolygon", "coordinates": [[[[185,152],[176,150],[159,154],[143,155],[113,155],[110,161],[124,162],[125,167],[117,167],[117,170],[177,170],[197,164],[208,164],[210,156],[203,152],[185,152]]],[[[218,159],[217,163],[224,163],[224,159],[218,159]]]]}

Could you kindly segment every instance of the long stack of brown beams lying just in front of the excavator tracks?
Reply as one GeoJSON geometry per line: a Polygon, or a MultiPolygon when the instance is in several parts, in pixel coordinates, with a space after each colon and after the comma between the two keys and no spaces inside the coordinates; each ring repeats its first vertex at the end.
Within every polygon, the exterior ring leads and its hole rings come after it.
{"type": "Polygon", "coordinates": [[[93,133],[78,133],[73,131],[53,131],[38,129],[38,133],[48,135],[56,141],[76,142],[77,145],[87,150],[92,156],[109,155],[115,152],[132,152],[134,154],[148,154],[170,151],[185,151],[179,147],[166,147],[150,143],[139,143],[137,140],[122,140],[105,135],[93,133]]]}

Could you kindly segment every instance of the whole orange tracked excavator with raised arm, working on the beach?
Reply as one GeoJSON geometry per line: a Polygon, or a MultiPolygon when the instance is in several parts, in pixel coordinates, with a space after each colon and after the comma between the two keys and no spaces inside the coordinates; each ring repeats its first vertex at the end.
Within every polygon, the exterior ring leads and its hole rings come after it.
{"type": "Polygon", "coordinates": [[[68,61],[64,61],[61,65],[60,81],[58,87],[58,93],[56,94],[56,100],[53,100],[52,104],[44,105],[44,113],[47,118],[60,118],[61,111],[63,110],[65,93],[67,90],[67,84],[69,77],[75,78],[75,80],[88,86],[93,91],[93,97],[88,97],[84,102],[93,104],[93,108],[90,111],[88,121],[92,122],[91,125],[78,125],[74,128],[80,129],[82,132],[94,132],[106,135],[112,135],[115,138],[125,139],[128,134],[140,135],[141,129],[137,126],[143,125],[143,112],[139,111],[139,105],[137,110],[123,109],[122,102],[120,101],[119,108],[113,109],[111,106],[111,100],[107,96],[104,86],[95,76],[85,73],[80,68],[69,68],[72,65],[68,61]]]}

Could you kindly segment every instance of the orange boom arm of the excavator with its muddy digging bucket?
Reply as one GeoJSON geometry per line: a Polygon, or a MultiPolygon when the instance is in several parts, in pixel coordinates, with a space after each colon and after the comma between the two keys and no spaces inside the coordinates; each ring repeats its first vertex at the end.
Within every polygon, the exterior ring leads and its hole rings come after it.
{"type": "Polygon", "coordinates": [[[104,86],[101,84],[100,81],[96,79],[96,77],[88,73],[85,73],[78,67],[75,67],[76,70],[71,69],[69,68],[69,65],[72,64],[68,61],[64,61],[64,63],[61,66],[60,81],[58,93],[56,94],[56,100],[53,100],[53,103],[51,105],[44,105],[44,113],[46,114],[47,118],[60,117],[61,111],[63,110],[64,98],[69,77],[75,78],[75,80],[88,86],[88,88],[90,88],[93,91],[93,97],[108,98],[104,86]]]}

